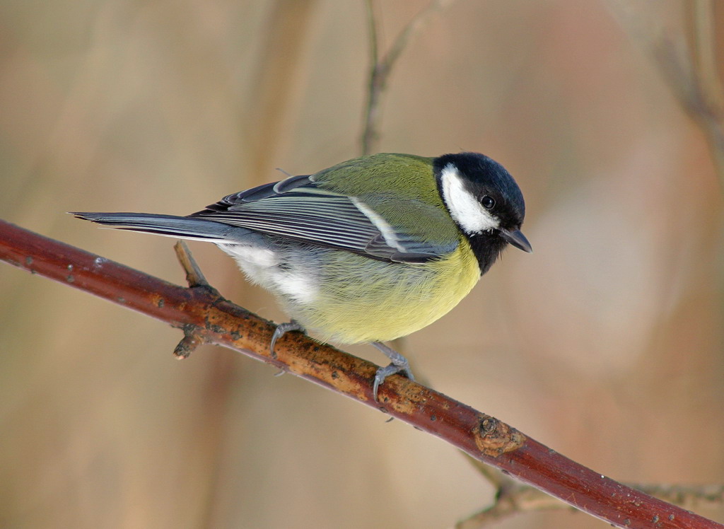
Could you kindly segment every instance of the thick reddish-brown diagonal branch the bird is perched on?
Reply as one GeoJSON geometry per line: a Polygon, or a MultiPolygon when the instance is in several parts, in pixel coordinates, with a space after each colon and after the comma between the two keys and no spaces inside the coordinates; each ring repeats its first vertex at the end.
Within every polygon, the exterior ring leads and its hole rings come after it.
{"type": "Polygon", "coordinates": [[[299,333],[279,340],[272,357],[269,341],[274,325],[207,286],[172,285],[3,221],[0,259],[183,328],[182,344],[189,350],[199,341],[216,343],[378,407],[619,527],[724,528],[605,478],[494,417],[403,377],[385,380],[380,401],[375,402],[371,389],[375,365],[299,333]]]}

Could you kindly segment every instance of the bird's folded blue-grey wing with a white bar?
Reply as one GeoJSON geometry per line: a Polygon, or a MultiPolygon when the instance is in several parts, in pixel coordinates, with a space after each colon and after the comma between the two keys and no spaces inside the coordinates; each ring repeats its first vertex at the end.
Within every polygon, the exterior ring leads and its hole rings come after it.
{"type": "MultiPolygon", "coordinates": [[[[439,243],[393,225],[379,214],[386,200],[392,201],[369,193],[364,198],[335,193],[303,175],[226,196],[190,217],[395,262],[426,262],[455,249],[457,239],[439,243]]],[[[395,207],[428,222],[446,221],[444,212],[422,201],[395,201],[395,207]]]]}

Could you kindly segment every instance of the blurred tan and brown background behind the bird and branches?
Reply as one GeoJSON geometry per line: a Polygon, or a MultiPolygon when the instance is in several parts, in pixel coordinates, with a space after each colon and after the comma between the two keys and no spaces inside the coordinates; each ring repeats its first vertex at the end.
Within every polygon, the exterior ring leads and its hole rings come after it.
{"type": "MultiPolygon", "coordinates": [[[[508,167],[534,247],[408,338],[413,370],[626,482],[724,475],[724,180],[647,46],[685,42],[689,4],[458,1],[409,42],[380,107],[376,151],[508,167]]],[[[382,51],[426,5],[375,4],[382,51]]],[[[361,0],[0,6],[5,220],[182,284],[171,239],[65,212],[188,214],[361,152],[361,0]]],[[[225,296],[285,321],[191,246],[225,296]]],[[[177,362],[178,330],[4,264],[0,315],[3,527],[441,528],[493,499],[436,438],[232,351],[177,362]]]]}

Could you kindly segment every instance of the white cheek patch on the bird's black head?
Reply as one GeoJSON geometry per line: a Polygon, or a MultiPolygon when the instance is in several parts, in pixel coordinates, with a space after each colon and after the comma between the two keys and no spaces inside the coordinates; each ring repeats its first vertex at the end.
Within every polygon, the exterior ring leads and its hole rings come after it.
{"type": "Polygon", "coordinates": [[[466,233],[481,233],[495,230],[500,226],[500,219],[485,209],[482,204],[465,188],[463,177],[458,167],[447,164],[442,168],[442,199],[453,220],[466,233]]]}

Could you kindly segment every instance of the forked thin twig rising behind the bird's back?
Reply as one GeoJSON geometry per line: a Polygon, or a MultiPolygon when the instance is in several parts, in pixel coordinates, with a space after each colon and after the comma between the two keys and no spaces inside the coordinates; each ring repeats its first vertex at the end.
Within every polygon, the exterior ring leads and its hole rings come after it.
{"type": "Polygon", "coordinates": [[[367,81],[367,104],[365,107],[364,129],[362,133],[362,154],[370,154],[374,150],[374,143],[379,139],[379,104],[380,98],[387,88],[387,78],[392,67],[405,51],[411,38],[419,33],[432,19],[432,15],[442,11],[454,0],[433,0],[418,12],[402,31],[397,35],[387,54],[379,58],[379,43],[377,37],[377,21],[374,15],[374,0],[365,0],[367,15],[367,28],[369,31],[370,58],[372,66],[367,81]]]}

